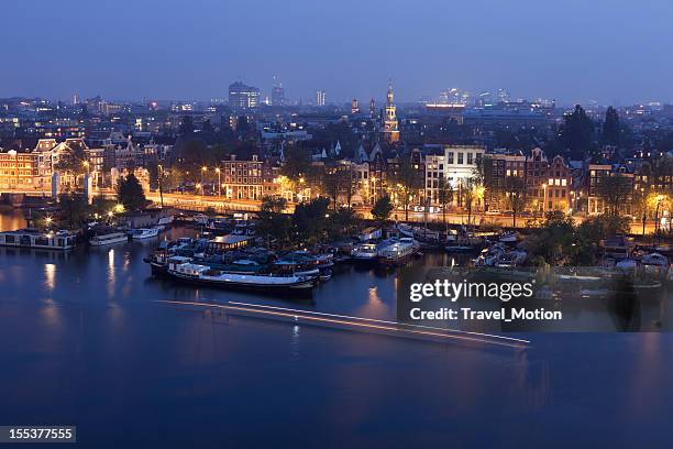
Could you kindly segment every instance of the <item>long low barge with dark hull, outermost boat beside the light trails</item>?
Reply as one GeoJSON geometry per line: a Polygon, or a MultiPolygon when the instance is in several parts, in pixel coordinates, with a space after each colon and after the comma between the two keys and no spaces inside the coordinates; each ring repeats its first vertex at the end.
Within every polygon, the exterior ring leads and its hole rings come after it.
{"type": "Polygon", "coordinates": [[[315,277],[229,273],[192,263],[188,258],[169,259],[167,273],[178,281],[198,285],[269,293],[310,291],[315,286],[315,277]]]}

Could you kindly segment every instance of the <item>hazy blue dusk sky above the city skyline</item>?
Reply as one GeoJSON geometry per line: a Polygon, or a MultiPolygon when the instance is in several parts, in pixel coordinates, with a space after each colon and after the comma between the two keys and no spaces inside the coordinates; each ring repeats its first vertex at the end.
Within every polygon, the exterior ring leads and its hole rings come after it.
{"type": "Polygon", "coordinates": [[[2,4],[0,97],[400,100],[448,87],[673,101],[670,0],[41,0],[2,4]]]}

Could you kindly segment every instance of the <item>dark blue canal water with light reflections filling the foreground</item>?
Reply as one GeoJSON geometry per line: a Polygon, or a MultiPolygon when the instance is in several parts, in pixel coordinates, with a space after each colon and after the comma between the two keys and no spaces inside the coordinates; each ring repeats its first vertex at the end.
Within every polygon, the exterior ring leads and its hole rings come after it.
{"type": "Polygon", "coordinates": [[[388,319],[397,275],[347,269],[278,300],[154,278],[155,244],[0,248],[0,425],[77,425],[96,448],[671,446],[670,333],[525,333],[515,350],[203,311],[157,302],[388,319]]]}

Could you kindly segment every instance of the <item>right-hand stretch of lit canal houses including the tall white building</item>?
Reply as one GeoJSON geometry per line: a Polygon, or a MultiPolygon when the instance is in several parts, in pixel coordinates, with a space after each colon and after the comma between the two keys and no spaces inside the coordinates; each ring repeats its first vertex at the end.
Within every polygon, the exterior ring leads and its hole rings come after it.
{"type": "MultiPolygon", "coordinates": [[[[372,204],[385,193],[396,194],[396,171],[407,157],[422,178],[421,188],[413,204],[440,205],[441,178],[453,188],[453,206],[461,207],[461,189],[477,177],[484,187],[483,197],[475,198],[474,209],[483,211],[506,211],[508,206],[507,179],[521,178],[525,185],[526,207],[530,212],[560,210],[565,213],[604,213],[607,202],[602,184],[609,176],[626,179],[628,189],[620,212],[636,213],[638,196],[650,193],[673,196],[673,154],[642,154],[632,157],[617,157],[615,149],[606,147],[602,158],[593,163],[566,161],[561,155],[548,157],[540,149],[529,152],[496,149],[486,151],[477,145],[426,144],[422,147],[386,149],[385,143],[375,143],[367,151],[361,145],[355,157],[339,158],[334,151],[324,151],[313,156],[315,164],[346,169],[356,185],[351,204],[372,204]]],[[[345,202],[345,198],[342,198],[345,202]]]]}

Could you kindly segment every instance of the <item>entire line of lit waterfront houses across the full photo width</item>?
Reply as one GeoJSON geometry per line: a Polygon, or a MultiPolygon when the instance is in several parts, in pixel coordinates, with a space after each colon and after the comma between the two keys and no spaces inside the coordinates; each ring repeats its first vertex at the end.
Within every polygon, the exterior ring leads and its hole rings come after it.
{"type": "MultiPolygon", "coordinates": [[[[170,145],[153,141],[135,143],[121,133],[111,133],[108,139],[90,147],[84,139],[41,139],[33,150],[0,150],[0,189],[51,190],[58,160],[66,152],[80,150],[88,160],[87,171],[93,188],[111,187],[118,176],[134,172],[146,188],[150,187],[148,169],[157,161],[167,158],[170,145]]],[[[264,153],[264,152],[260,152],[264,153]]],[[[668,154],[635,153],[632,157],[617,157],[617,151],[606,147],[600,163],[566,161],[560,155],[548,157],[539,149],[514,152],[501,149],[486,151],[478,145],[424,144],[407,147],[405,144],[388,145],[375,142],[361,144],[351,157],[345,157],[339,142],[329,150],[321,149],[311,157],[313,165],[326,171],[340,171],[350,178],[340,187],[339,202],[355,206],[373,204],[376,198],[399,195],[398,171],[408,163],[418,178],[413,189],[413,205],[439,206],[442,185],[453,188],[453,206],[464,206],[461,190],[470,179],[478,175],[484,187],[483,195],[475,198],[475,210],[506,211],[507,179],[521,178],[525,187],[526,210],[545,212],[561,210],[567,213],[605,211],[600,185],[608,176],[620,176],[628,180],[629,195],[621,212],[635,213],[633,198],[654,191],[673,196],[673,173],[668,154]],[[405,161],[406,160],[406,161],[405,161]],[[443,179],[443,183],[442,183],[443,179]]],[[[232,156],[220,164],[220,189],[212,188],[227,198],[260,200],[266,195],[283,195],[291,200],[301,200],[316,194],[309,183],[305,190],[286,188],[282,183],[279,166],[284,154],[256,154],[250,160],[232,156]]],[[[76,184],[75,174],[59,173],[58,183],[76,184]]],[[[79,175],[81,176],[81,175],[79,175]]],[[[322,186],[324,187],[324,186],[322,186]]],[[[324,191],[322,191],[324,194],[324,191]]]]}

